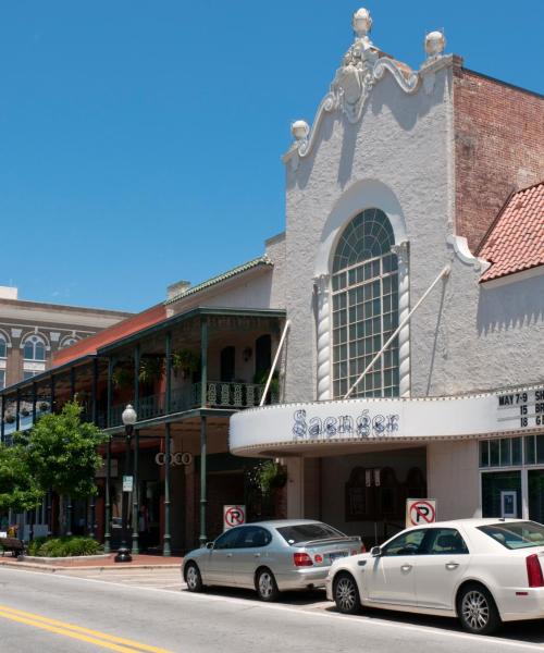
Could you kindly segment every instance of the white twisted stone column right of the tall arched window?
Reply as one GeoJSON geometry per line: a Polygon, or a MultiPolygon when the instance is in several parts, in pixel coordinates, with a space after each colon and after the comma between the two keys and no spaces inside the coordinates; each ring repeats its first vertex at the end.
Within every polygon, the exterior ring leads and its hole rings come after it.
{"type": "MultiPolygon", "coordinates": [[[[410,312],[410,275],[408,241],[394,245],[392,251],[398,259],[398,323],[410,312]]],[[[409,397],[410,391],[410,323],[398,333],[398,394],[409,397]]]]}

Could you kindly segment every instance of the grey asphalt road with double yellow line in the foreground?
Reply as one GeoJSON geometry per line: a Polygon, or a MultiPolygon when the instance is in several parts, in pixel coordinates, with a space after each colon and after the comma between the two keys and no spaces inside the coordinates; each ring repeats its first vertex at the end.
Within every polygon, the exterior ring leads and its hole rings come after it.
{"type": "Polygon", "coordinates": [[[319,592],[269,605],[250,592],[190,594],[181,587],[176,570],[60,575],[0,568],[0,651],[544,652],[537,623],[475,637],[450,619],[378,611],[339,615],[319,592]]]}

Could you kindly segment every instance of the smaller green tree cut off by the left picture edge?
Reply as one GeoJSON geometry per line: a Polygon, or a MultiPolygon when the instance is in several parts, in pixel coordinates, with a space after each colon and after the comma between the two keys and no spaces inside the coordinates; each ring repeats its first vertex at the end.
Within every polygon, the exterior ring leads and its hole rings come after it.
{"type": "Polygon", "coordinates": [[[28,449],[21,444],[0,444],[0,512],[30,510],[42,496],[29,468],[28,449]]]}

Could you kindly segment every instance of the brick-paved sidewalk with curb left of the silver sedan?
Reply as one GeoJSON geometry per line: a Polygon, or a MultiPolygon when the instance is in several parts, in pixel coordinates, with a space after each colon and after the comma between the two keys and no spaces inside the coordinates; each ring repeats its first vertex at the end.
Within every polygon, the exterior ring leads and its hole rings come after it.
{"type": "Polygon", "coordinates": [[[14,567],[20,569],[34,569],[42,571],[58,571],[61,569],[178,569],[183,557],[163,557],[161,555],[134,555],[132,563],[115,563],[115,553],[108,558],[97,562],[96,559],[85,560],[81,557],[74,560],[62,560],[59,564],[40,564],[35,562],[18,560],[10,555],[0,555],[0,566],[14,567]]]}

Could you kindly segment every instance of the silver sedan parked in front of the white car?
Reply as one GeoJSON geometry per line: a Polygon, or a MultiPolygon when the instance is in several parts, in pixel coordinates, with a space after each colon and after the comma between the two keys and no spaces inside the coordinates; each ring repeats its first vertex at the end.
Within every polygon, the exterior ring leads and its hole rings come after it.
{"type": "Polygon", "coordinates": [[[321,588],[329,567],[364,551],[361,539],[311,519],[277,519],[232,528],[188,553],[182,574],[191,592],[205,586],[255,589],[262,601],[281,591],[321,588]]]}

